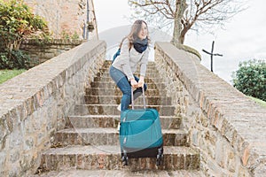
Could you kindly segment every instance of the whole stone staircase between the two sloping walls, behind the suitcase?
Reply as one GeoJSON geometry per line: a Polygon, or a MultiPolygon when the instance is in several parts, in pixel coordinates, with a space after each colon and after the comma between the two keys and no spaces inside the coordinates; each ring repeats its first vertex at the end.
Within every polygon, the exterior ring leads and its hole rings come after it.
{"type": "MultiPolygon", "coordinates": [[[[75,113],[68,117],[66,128],[55,134],[55,143],[50,150],[43,152],[39,167],[41,175],[53,176],[51,173],[72,170],[74,176],[79,176],[78,173],[82,173],[80,176],[113,175],[114,172],[125,176],[133,172],[140,175],[203,176],[199,171],[200,153],[188,146],[187,132],[180,126],[182,120],[175,116],[171,97],[166,96],[165,84],[153,62],[147,66],[145,81],[148,90],[145,95],[147,107],[160,113],[163,165],[155,165],[155,158],[131,158],[129,166],[122,165],[116,130],[120,119],[116,108],[120,104],[121,91],[109,77],[110,65],[110,61],[106,61],[91,88],[86,89],[86,104],[75,105],[75,113]]],[[[142,98],[137,98],[135,104],[136,109],[142,107],[142,98]]]]}

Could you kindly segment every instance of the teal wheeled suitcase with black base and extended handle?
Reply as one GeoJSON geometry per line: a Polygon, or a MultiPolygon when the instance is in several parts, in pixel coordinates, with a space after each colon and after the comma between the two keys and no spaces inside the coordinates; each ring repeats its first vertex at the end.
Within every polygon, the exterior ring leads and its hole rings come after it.
{"type": "MultiPolygon", "coordinates": [[[[143,97],[145,104],[145,94],[143,97]]],[[[162,164],[160,115],[157,110],[145,107],[135,110],[132,101],[132,110],[121,112],[119,139],[123,165],[128,165],[129,158],[156,158],[156,165],[162,164]]]]}

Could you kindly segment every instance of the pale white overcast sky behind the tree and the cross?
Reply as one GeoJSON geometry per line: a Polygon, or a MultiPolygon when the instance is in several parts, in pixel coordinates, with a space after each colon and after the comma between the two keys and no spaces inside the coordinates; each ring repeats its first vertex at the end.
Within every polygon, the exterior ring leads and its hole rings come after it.
{"type": "MultiPolygon", "coordinates": [[[[251,58],[266,59],[266,1],[247,1],[249,8],[237,14],[225,24],[225,30],[217,30],[215,35],[196,35],[193,32],[185,36],[184,44],[200,52],[201,64],[210,68],[210,57],[202,49],[211,50],[215,41],[215,53],[223,57],[214,58],[214,73],[230,82],[231,73],[238,69],[239,61],[251,58]]],[[[113,27],[130,25],[126,17],[130,16],[128,0],[94,1],[98,33],[113,27]]]]}

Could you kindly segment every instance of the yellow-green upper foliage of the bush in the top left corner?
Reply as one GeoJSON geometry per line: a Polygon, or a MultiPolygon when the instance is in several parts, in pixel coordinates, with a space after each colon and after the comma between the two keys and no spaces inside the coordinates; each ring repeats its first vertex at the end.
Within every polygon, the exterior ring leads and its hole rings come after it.
{"type": "Polygon", "coordinates": [[[47,27],[44,19],[33,14],[22,0],[0,0],[0,4],[0,35],[10,50],[19,50],[22,40],[47,27]]]}

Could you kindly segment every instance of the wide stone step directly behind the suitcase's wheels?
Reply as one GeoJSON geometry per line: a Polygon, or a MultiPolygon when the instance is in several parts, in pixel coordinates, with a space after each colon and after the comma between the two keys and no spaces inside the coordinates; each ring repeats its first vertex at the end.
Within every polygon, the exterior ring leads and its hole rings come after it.
{"type": "MultiPolygon", "coordinates": [[[[129,158],[130,170],[199,170],[200,154],[192,148],[165,146],[163,165],[156,158],[129,158]]],[[[59,171],[69,168],[82,170],[120,170],[120,146],[66,146],[46,150],[42,154],[40,169],[59,171]]]]}

